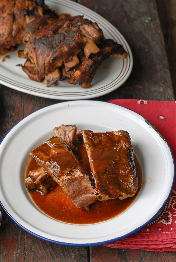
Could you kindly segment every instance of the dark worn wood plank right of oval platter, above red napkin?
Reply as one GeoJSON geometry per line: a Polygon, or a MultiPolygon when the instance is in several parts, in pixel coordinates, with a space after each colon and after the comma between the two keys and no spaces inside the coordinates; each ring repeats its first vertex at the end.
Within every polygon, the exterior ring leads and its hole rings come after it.
{"type": "MultiPolygon", "coordinates": [[[[125,37],[133,53],[129,79],[106,96],[113,98],[174,99],[170,71],[155,1],[80,0],[112,23],[125,37]]],[[[101,97],[104,99],[104,97],[101,97]]]]}

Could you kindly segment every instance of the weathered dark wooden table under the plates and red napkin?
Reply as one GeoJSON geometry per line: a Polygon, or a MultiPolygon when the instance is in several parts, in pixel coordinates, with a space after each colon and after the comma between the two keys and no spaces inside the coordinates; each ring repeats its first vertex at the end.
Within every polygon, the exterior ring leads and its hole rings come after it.
{"type": "MultiPolygon", "coordinates": [[[[111,22],[131,47],[134,65],[117,90],[95,100],[114,98],[174,100],[170,72],[155,0],[80,0],[111,22]]],[[[0,85],[0,139],[25,116],[61,101],[40,98],[0,85]]],[[[10,163],[9,163],[10,164],[10,163]]],[[[8,175],[8,174],[7,174],[8,175]]],[[[0,261],[176,261],[175,252],[70,247],[52,244],[26,233],[3,213],[0,261]]],[[[96,232],[95,232],[96,233],[96,232]]]]}

